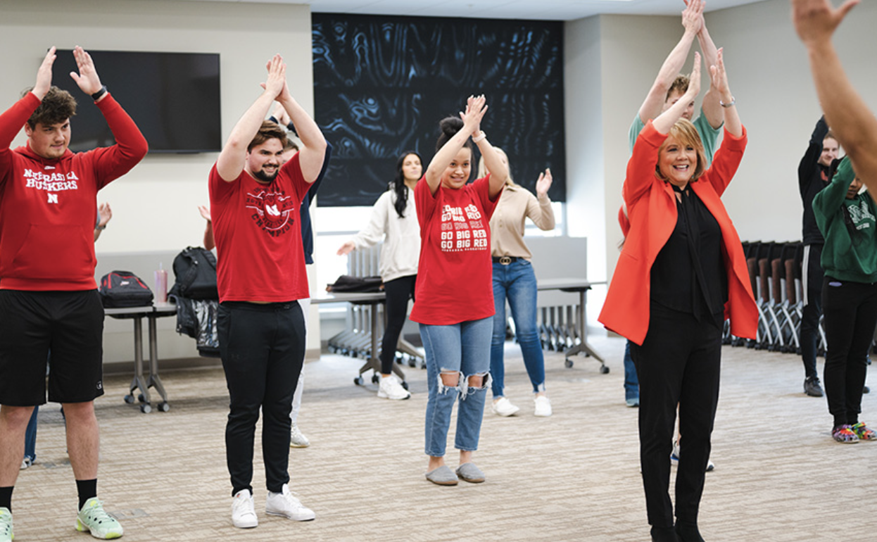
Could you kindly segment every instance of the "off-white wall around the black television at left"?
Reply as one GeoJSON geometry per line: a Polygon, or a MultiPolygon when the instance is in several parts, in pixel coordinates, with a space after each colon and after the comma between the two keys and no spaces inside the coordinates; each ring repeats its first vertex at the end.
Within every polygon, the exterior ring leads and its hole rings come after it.
{"type": "MultiPolygon", "coordinates": [[[[168,2],[165,0],[4,0],[0,47],[4,77],[0,108],[13,103],[33,84],[39,62],[49,46],[70,49],[219,53],[223,137],[253,103],[265,80],[265,63],[281,53],[287,80],[296,99],[313,112],[310,9],[306,5],[229,2],[168,2]],[[3,105],[6,104],[6,105],[3,105]]],[[[102,73],[112,91],[113,75],[102,73]]],[[[67,75],[55,75],[67,76],[67,75]]],[[[88,96],[76,96],[80,107],[94,107],[88,96]]],[[[123,107],[125,103],[122,104],[123,107]]],[[[76,129],[75,118],[72,122],[76,129]]],[[[23,143],[19,134],[17,143],[23,143]]],[[[112,204],[113,220],[96,246],[101,253],[175,251],[200,245],[203,219],[196,206],[209,203],[207,175],[216,153],[148,155],[131,173],[99,194],[112,204]]],[[[170,267],[171,262],[165,262],[170,267]]],[[[146,278],[146,277],[145,277],[146,278]]],[[[178,341],[195,352],[194,341],[178,338],[173,318],[160,320],[160,355],[179,352],[178,341]]],[[[120,323],[108,319],[105,360],[131,360],[130,332],[113,333],[120,323]],[[117,327],[114,327],[117,326],[117,327]],[[114,335],[118,335],[114,339],[114,335]]],[[[311,330],[315,324],[311,324],[311,330]]],[[[311,332],[318,347],[317,332],[311,332]]],[[[124,325],[130,330],[130,324],[124,325]]],[[[313,346],[309,340],[309,350],[313,346]]]]}

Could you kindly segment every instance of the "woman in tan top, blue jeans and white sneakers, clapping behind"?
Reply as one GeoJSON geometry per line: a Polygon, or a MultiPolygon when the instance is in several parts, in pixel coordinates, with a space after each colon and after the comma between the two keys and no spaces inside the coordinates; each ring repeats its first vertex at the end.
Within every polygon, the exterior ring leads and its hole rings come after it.
{"type": "MultiPolygon", "coordinates": [[[[502,149],[494,147],[508,165],[509,159],[502,149]]],[[[485,175],[481,161],[478,175],[485,175]]],[[[554,229],[554,212],[548,189],[552,175],[549,169],[539,174],[536,194],[517,185],[509,175],[505,189],[490,219],[490,254],[493,256],[493,288],[496,315],[493,339],[490,344],[490,374],[493,377],[493,411],[499,416],[511,416],[518,407],[504,393],[505,367],[503,346],[505,344],[505,302],[508,299],[511,317],[515,321],[515,335],[524,354],[524,366],[533,385],[534,414],[551,416],[552,408],[545,395],[545,360],[539,343],[536,326],[536,275],[531,265],[532,254],[524,244],[524,220],[530,218],[540,230],[554,229]]]]}

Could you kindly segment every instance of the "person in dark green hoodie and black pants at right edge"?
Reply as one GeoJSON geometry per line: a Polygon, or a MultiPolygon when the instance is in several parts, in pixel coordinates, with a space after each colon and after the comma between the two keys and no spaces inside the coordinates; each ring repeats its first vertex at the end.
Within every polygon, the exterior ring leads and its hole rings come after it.
{"type": "Polygon", "coordinates": [[[877,326],[877,205],[852,169],[849,156],[831,183],[813,198],[822,253],[825,340],[824,383],[838,442],[877,439],[859,421],[867,355],[877,326]]]}

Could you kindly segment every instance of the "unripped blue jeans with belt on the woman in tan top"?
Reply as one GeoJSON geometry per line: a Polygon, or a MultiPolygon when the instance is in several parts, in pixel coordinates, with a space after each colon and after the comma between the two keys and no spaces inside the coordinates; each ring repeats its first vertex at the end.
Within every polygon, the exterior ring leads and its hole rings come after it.
{"type": "Polygon", "coordinates": [[[505,344],[505,300],[511,307],[515,321],[515,337],[524,354],[524,367],[530,375],[533,392],[545,391],[545,358],[536,327],[536,275],[527,260],[517,260],[507,266],[494,263],[493,339],[490,341],[490,374],[494,397],[502,397],[505,388],[503,346],[505,344]]]}

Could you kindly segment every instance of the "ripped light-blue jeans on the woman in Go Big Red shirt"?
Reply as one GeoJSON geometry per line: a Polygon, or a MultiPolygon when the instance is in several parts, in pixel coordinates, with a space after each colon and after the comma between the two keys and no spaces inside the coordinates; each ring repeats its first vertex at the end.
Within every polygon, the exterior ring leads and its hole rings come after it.
{"type": "Polygon", "coordinates": [[[478,449],[484,400],[490,385],[490,336],[493,317],[453,325],[420,324],[420,338],[426,352],[426,444],[424,452],[432,457],[445,455],[447,430],[451,424],[453,404],[457,408],[457,432],[454,447],[473,452],[478,449]],[[456,388],[441,381],[441,373],[459,376],[456,388]],[[482,376],[480,388],[470,388],[470,376],[482,376]]]}

